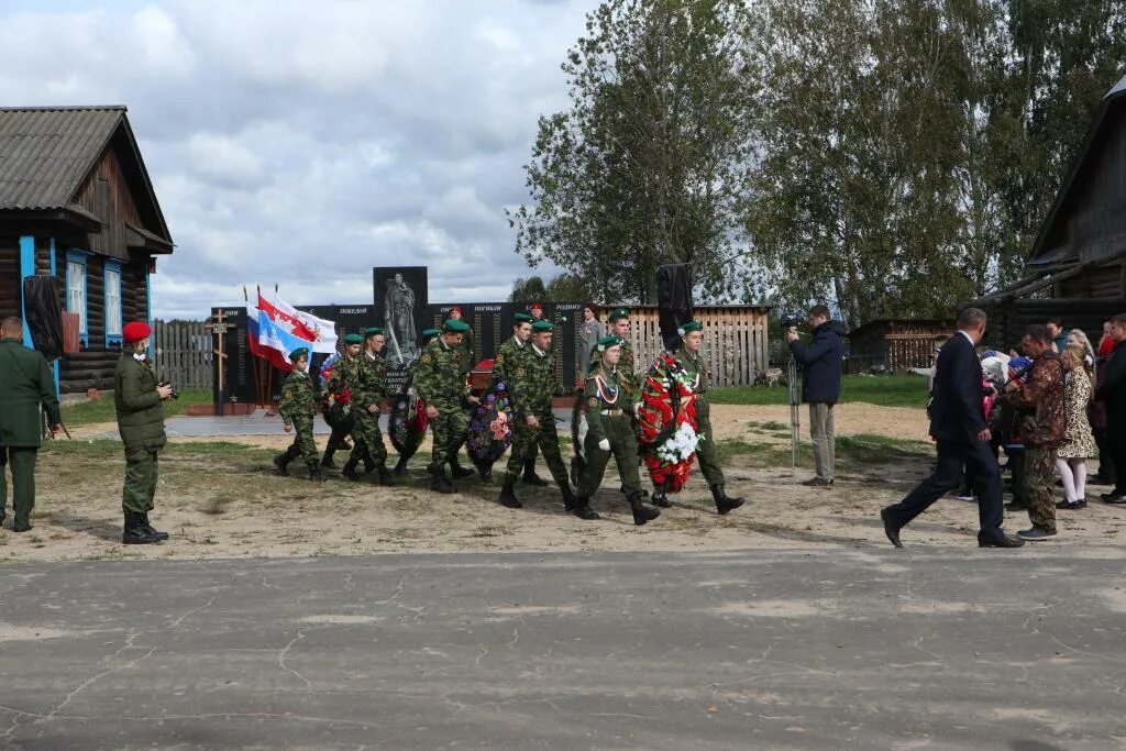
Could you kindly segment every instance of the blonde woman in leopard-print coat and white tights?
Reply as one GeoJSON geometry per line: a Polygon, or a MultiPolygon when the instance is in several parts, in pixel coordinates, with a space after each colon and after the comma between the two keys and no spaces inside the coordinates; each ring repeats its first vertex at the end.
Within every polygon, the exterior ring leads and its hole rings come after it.
{"type": "Polygon", "coordinates": [[[1064,500],[1057,509],[1081,509],[1087,506],[1087,459],[1094,456],[1094,437],[1087,420],[1091,403],[1091,377],[1087,373],[1087,352],[1081,345],[1063,348],[1063,368],[1067,372],[1063,387],[1064,412],[1067,417],[1063,444],[1056,449],[1056,472],[1063,480],[1064,500]]]}

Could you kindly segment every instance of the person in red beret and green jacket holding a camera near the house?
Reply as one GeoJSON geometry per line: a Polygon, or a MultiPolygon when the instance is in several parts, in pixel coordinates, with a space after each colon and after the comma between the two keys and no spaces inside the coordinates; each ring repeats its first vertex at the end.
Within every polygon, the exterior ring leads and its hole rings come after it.
{"type": "Polygon", "coordinates": [[[161,402],[172,396],[172,387],[159,384],[149,366],[151,333],[148,323],[126,323],[122,329],[122,356],[114,370],[114,409],[117,430],[125,444],[122,542],[126,545],[151,545],[168,539],[167,533],[157,531],[149,524],[157,494],[157,455],[168,442],[161,402]]]}

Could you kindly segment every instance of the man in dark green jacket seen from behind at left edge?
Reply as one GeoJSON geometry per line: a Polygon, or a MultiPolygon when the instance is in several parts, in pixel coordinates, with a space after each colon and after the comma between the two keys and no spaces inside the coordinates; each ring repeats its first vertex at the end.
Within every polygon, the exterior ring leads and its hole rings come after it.
{"type": "Polygon", "coordinates": [[[0,322],[0,522],[8,508],[8,482],[3,468],[11,463],[12,531],[32,528],[35,508],[35,457],[43,430],[39,406],[47,411],[51,432],[62,428],[59,397],[51,368],[43,355],[24,347],[24,322],[0,322]]]}

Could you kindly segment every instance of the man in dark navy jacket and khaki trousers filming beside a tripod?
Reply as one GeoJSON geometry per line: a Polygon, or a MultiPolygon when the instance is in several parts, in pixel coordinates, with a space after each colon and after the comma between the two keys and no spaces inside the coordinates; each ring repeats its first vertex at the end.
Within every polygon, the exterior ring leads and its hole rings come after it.
{"type": "Polygon", "coordinates": [[[841,396],[841,374],[844,369],[844,325],[829,320],[829,309],[814,305],[810,310],[813,340],[803,345],[797,331],[786,333],[794,359],[802,364],[802,401],[810,405],[810,438],[813,464],[817,475],[806,480],[812,488],[833,484],[837,462],[833,445],[833,405],[841,396]]]}

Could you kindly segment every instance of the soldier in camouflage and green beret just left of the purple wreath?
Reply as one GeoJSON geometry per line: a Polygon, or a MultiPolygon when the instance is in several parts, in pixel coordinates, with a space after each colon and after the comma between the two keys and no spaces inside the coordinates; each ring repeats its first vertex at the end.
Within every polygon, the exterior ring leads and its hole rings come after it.
{"type": "Polygon", "coordinates": [[[434,452],[427,467],[431,476],[430,489],[439,493],[457,492],[446,476],[446,465],[456,466],[452,454],[464,440],[468,427],[465,404],[477,401],[470,394],[465,376],[462,375],[462,360],[457,350],[468,328],[461,321],[447,320],[441,327],[441,336],[422,350],[418,369],[414,370],[414,391],[426,402],[427,418],[434,431],[434,452]]]}

